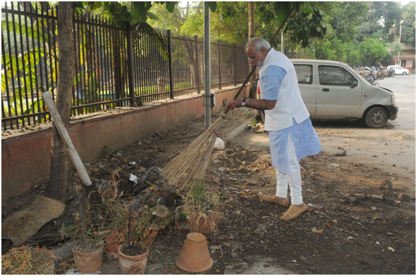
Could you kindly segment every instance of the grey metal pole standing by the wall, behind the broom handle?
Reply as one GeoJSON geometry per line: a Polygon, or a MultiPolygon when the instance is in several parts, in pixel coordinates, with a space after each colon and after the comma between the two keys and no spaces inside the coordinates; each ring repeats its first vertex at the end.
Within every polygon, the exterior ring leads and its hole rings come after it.
{"type": "Polygon", "coordinates": [[[206,128],[211,126],[210,106],[210,8],[208,2],[204,2],[204,118],[206,128]]]}

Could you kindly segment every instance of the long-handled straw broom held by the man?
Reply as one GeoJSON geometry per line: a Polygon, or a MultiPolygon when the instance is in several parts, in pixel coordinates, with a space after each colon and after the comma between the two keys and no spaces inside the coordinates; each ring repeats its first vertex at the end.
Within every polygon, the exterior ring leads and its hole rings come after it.
{"type": "MultiPolygon", "coordinates": [[[[288,14],[287,18],[281,24],[275,36],[272,37],[270,44],[275,41],[275,38],[294,10],[295,7],[292,8],[290,14],[288,14]]],[[[233,99],[239,97],[240,92],[242,92],[246,83],[248,83],[248,80],[255,72],[255,69],[256,67],[253,67],[252,71],[250,71],[248,78],[246,78],[242,87],[240,87],[233,99]]],[[[189,145],[182,149],[182,152],[165,165],[162,176],[164,176],[164,179],[174,187],[178,187],[179,184],[182,183],[179,188],[180,192],[189,192],[191,186],[195,183],[195,180],[204,179],[216,138],[220,135],[217,131],[222,126],[224,119],[226,119],[224,115],[226,115],[227,112],[228,110],[222,111],[222,115],[219,119],[215,120],[202,135],[191,141],[189,145]]]]}

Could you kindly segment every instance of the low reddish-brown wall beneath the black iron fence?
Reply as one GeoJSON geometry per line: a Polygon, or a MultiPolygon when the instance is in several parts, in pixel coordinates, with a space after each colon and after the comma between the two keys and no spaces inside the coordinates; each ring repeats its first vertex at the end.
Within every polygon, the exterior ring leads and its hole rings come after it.
{"type": "MultiPolygon", "coordinates": [[[[226,87],[215,93],[216,106],[223,108],[225,99],[231,100],[239,87],[226,87]]],[[[239,97],[247,97],[245,87],[239,97]]],[[[68,133],[84,163],[98,161],[105,155],[105,146],[112,150],[123,148],[162,130],[173,128],[204,115],[202,95],[188,95],[175,100],[160,100],[135,108],[118,108],[72,118],[68,133]]],[[[1,202],[22,194],[35,181],[50,174],[52,124],[41,130],[21,133],[10,130],[11,135],[1,138],[1,202]]]]}

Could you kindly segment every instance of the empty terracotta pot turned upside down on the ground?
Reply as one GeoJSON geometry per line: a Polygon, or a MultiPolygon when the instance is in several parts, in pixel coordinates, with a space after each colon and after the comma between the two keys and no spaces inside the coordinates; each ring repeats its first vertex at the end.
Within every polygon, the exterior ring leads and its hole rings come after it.
{"type": "Polygon", "coordinates": [[[189,233],[175,264],[186,273],[207,273],[213,267],[207,240],[201,233],[189,233]]]}

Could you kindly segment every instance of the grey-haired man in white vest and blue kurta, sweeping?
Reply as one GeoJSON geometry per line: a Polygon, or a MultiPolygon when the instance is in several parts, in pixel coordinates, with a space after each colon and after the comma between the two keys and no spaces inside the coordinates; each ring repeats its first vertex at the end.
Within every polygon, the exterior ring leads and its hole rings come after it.
{"type": "Polygon", "coordinates": [[[224,109],[231,111],[247,106],[265,111],[264,129],[269,133],[272,166],[277,172],[277,192],[275,195],[259,193],[259,198],[287,207],[290,185],[291,206],[280,219],[291,220],[307,210],[301,195],[299,161],[319,154],[320,140],[301,99],[292,62],[260,37],[252,38],[245,51],[250,64],[259,69],[261,99],[231,100],[224,109]]]}

